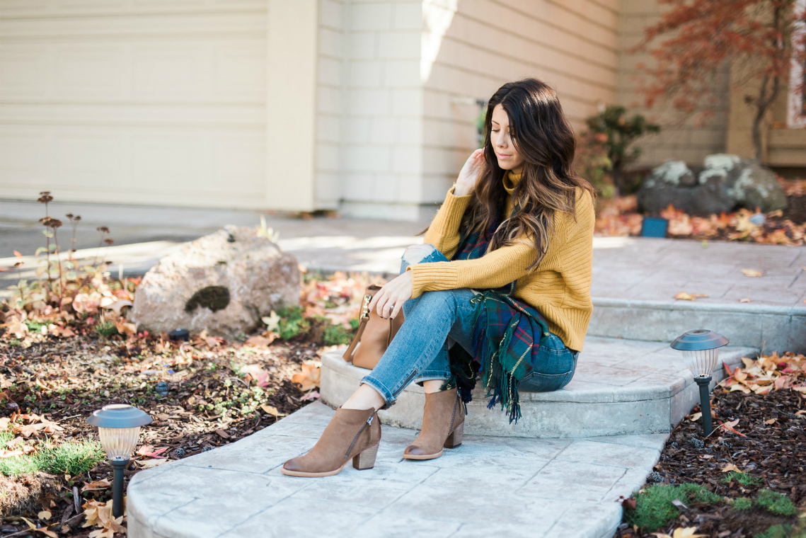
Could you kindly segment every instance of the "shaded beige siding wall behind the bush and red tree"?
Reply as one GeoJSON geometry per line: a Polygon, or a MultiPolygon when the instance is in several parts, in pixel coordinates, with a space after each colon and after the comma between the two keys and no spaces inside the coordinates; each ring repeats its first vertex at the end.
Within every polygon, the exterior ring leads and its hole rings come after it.
{"type": "Polygon", "coordinates": [[[636,91],[643,77],[637,65],[652,65],[652,57],[645,53],[627,54],[625,51],[642,40],[644,28],[659,20],[661,8],[657,0],[622,0],[622,54],[617,79],[617,101],[661,125],[661,132],[657,135],[646,136],[639,141],[643,154],[634,166],[645,168],[667,159],[702,165],[705,156],[725,152],[729,116],[729,69],[725,69],[718,77],[717,85],[721,88],[719,99],[713,106],[713,117],[706,123],[700,124],[693,117],[684,118],[669,106],[647,109],[643,96],[636,91]]]}

